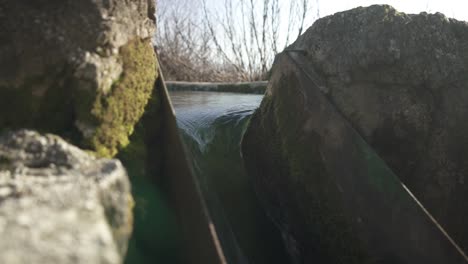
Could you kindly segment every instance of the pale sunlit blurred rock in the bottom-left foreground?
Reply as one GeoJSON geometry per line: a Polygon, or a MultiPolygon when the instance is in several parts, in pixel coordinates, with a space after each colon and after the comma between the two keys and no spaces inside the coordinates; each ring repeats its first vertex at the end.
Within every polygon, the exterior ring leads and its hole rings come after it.
{"type": "Polygon", "coordinates": [[[0,263],[122,263],[132,204],[119,161],[53,135],[0,137],[0,263]]]}

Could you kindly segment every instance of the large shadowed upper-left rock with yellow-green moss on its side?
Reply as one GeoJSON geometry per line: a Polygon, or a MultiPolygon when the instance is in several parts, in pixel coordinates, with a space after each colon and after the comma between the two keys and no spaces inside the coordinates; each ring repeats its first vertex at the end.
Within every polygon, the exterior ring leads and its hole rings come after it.
{"type": "Polygon", "coordinates": [[[154,1],[0,0],[0,130],[34,128],[113,156],[157,75],[154,1]]]}

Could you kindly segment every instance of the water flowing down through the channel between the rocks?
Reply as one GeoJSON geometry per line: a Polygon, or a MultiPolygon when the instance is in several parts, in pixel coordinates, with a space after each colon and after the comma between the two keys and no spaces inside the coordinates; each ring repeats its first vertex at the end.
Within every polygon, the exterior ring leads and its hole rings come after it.
{"type": "Polygon", "coordinates": [[[240,141],[262,96],[171,92],[177,123],[229,263],[287,263],[281,237],[259,206],[240,141]]]}

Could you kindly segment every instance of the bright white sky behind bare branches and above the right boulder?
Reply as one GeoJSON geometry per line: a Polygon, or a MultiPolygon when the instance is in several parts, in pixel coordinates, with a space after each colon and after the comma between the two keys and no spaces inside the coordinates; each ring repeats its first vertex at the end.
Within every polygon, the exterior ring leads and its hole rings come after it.
{"type": "MultiPolygon", "coordinates": [[[[226,3],[232,3],[234,9],[238,12],[235,15],[233,22],[237,31],[242,32],[242,23],[247,23],[247,27],[250,23],[249,18],[240,12],[239,7],[242,6],[241,3],[250,3],[250,0],[158,0],[161,5],[159,7],[163,7],[164,4],[169,7],[177,7],[177,10],[184,11],[190,15],[194,15],[198,17],[197,14],[203,15],[202,4],[206,1],[208,13],[211,14],[211,17],[222,17],[223,10],[225,11],[226,3]],[[242,2],[244,1],[244,2],[242,2]],[[176,4],[179,3],[179,4],[176,4]],[[198,10],[196,12],[196,10],[198,10]],[[244,19],[242,19],[244,18],[244,19]],[[239,22],[240,21],[240,22],[239,22]]],[[[302,0],[279,0],[280,5],[280,19],[279,22],[279,34],[277,41],[278,50],[282,50],[284,47],[289,45],[290,43],[294,42],[297,38],[299,33],[299,23],[290,23],[289,19],[289,7],[291,6],[291,1],[297,1],[296,3],[300,3],[302,0]],[[290,27],[290,25],[293,25],[290,27]],[[288,33],[289,32],[289,33],[288,33]],[[287,37],[289,36],[289,37],[287,37]]],[[[319,17],[324,17],[328,15],[332,15],[336,12],[342,12],[345,10],[349,10],[359,6],[370,6],[375,4],[388,4],[393,6],[400,12],[408,13],[408,14],[417,14],[421,12],[428,12],[428,13],[436,13],[440,12],[445,14],[449,18],[455,18],[458,20],[468,21],[468,0],[308,0],[309,1],[309,8],[307,12],[307,18],[304,24],[304,30],[302,33],[309,28],[313,22],[318,18],[317,16],[317,7],[319,8],[319,17]]],[[[255,21],[259,22],[262,19],[262,3],[263,0],[253,0],[256,7],[259,8],[256,11],[255,21]]],[[[271,2],[270,2],[271,3],[271,2]]],[[[248,5],[248,4],[247,4],[248,5]]],[[[299,5],[298,5],[299,6],[299,5]]],[[[158,10],[163,10],[160,8],[158,10]]],[[[184,13],[183,12],[183,13],[184,13]]],[[[182,14],[183,14],[182,13],[182,14]]],[[[181,15],[177,15],[177,17],[181,17],[181,15]]],[[[296,21],[300,20],[300,16],[295,13],[293,15],[294,18],[298,18],[296,21]]],[[[200,23],[202,20],[197,20],[197,23],[200,23]]],[[[227,35],[223,35],[223,26],[222,24],[226,24],[223,19],[215,19],[217,21],[217,27],[215,32],[217,32],[217,38],[221,43],[221,46],[225,47],[224,51],[228,57],[233,56],[232,53],[232,43],[229,42],[231,38],[228,38],[227,35]],[[221,30],[220,30],[221,28],[221,30]],[[221,32],[221,33],[220,33],[221,32]],[[226,44],[227,43],[227,44],[226,44]]],[[[244,27],[245,28],[245,27],[244,27]]],[[[245,29],[244,29],[245,30],[245,29]]],[[[161,31],[161,29],[160,29],[161,31]]],[[[235,30],[236,31],[236,30],[235,30]]],[[[242,33],[239,33],[242,34],[242,33]]],[[[239,36],[239,35],[238,35],[239,36]]],[[[249,36],[249,34],[247,34],[249,36]]],[[[270,35],[271,36],[271,35],[270,35]]],[[[236,39],[236,38],[235,38],[236,39]]],[[[250,43],[250,42],[242,42],[242,43],[250,43]]],[[[255,43],[255,42],[252,42],[255,43]]],[[[239,43],[235,43],[236,46],[243,46],[237,45],[239,43]]],[[[250,44],[247,44],[249,46],[250,44]]],[[[249,58],[251,58],[250,56],[249,58]]],[[[273,58],[274,56],[269,56],[273,58]]]]}

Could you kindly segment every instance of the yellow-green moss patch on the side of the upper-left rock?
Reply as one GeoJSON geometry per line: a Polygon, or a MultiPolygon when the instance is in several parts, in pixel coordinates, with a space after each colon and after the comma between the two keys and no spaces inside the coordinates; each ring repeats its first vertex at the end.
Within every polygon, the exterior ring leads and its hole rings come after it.
{"type": "Polygon", "coordinates": [[[150,40],[133,40],[120,49],[123,73],[111,91],[80,93],[78,121],[94,131],[84,145],[99,156],[111,157],[129,144],[129,136],[142,117],[157,76],[157,62],[150,40]]]}

